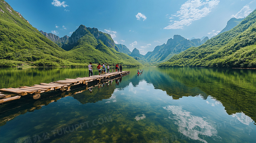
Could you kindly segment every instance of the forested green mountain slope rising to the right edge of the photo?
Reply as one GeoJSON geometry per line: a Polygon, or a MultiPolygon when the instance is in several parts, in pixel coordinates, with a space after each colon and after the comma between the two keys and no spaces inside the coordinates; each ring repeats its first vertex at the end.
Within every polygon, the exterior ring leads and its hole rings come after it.
{"type": "Polygon", "coordinates": [[[256,9],[240,24],[159,66],[256,67],[256,9]]]}

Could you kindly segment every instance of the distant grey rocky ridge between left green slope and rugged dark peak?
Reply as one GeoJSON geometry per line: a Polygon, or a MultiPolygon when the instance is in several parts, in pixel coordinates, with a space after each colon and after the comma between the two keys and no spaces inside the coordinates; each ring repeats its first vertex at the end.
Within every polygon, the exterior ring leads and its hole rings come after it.
{"type": "Polygon", "coordinates": [[[41,32],[45,37],[47,37],[48,39],[50,39],[51,41],[53,41],[54,43],[56,43],[58,46],[62,46],[63,44],[67,44],[68,40],[69,40],[69,36],[65,35],[64,37],[59,38],[59,36],[52,34],[52,33],[46,33],[42,30],[40,30],[39,32],[41,32]]]}

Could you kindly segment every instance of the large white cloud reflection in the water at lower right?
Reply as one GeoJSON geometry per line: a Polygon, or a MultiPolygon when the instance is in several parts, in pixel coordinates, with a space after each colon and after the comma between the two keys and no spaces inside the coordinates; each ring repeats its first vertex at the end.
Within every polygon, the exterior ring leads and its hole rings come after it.
{"type": "Polygon", "coordinates": [[[169,118],[174,120],[174,123],[178,125],[178,131],[183,135],[194,140],[200,140],[204,143],[207,142],[199,136],[205,135],[221,138],[217,136],[217,130],[213,128],[210,123],[205,121],[202,117],[191,115],[191,112],[183,110],[181,106],[166,106],[163,107],[163,109],[171,113],[169,118]]]}

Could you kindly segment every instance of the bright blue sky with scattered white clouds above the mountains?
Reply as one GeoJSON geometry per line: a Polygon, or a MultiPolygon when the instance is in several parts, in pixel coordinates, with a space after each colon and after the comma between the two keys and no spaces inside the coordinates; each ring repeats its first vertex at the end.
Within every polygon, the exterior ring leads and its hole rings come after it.
{"type": "Polygon", "coordinates": [[[111,34],[115,43],[153,51],[173,35],[209,38],[232,17],[256,9],[255,0],[6,0],[33,27],[59,37],[80,25],[111,34]]]}

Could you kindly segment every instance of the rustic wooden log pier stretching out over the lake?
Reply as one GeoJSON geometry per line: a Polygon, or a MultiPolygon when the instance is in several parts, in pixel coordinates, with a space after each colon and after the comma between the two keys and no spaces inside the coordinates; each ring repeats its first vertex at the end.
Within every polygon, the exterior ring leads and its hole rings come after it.
{"type": "Polygon", "coordinates": [[[40,83],[33,86],[21,86],[19,88],[2,88],[0,89],[0,103],[19,99],[19,98],[32,98],[38,99],[41,97],[41,93],[60,90],[60,91],[70,91],[70,88],[74,85],[85,84],[91,82],[100,82],[101,80],[108,80],[114,77],[120,77],[129,74],[130,71],[123,72],[112,72],[104,75],[95,75],[91,77],[82,77],[76,79],[65,79],[53,81],[50,83],[40,83]]]}

